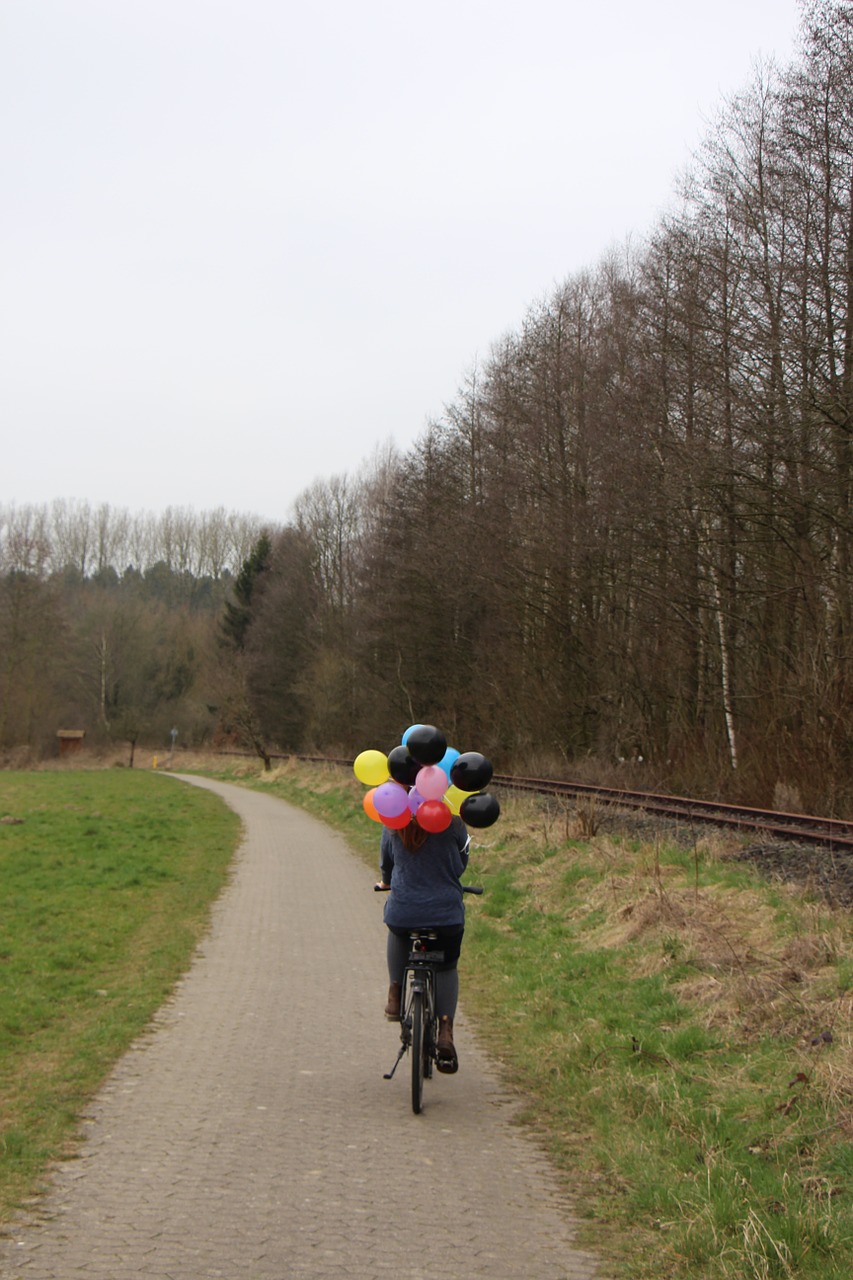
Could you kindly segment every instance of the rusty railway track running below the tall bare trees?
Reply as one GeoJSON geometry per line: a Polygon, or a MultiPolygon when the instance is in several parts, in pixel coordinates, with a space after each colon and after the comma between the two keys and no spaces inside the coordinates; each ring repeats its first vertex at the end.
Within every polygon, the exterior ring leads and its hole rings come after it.
{"type": "Polygon", "coordinates": [[[695,800],[688,796],[657,795],[652,791],[625,791],[616,787],[597,787],[581,782],[557,782],[551,778],[515,778],[494,774],[493,782],[514,791],[534,791],[538,795],[565,796],[638,809],[662,818],[703,822],[716,827],[736,827],[763,836],[793,840],[833,849],[853,850],[853,823],[835,818],[816,818],[802,813],[779,813],[772,809],[752,809],[745,805],[720,804],[716,800],[695,800]]]}

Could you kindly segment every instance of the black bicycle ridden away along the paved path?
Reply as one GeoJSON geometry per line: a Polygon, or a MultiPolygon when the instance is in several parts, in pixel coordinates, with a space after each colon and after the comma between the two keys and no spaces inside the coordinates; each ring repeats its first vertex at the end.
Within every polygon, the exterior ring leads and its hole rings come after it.
{"type": "MultiPolygon", "coordinates": [[[[374,884],[383,892],[380,884],[374,884]]],[[[464,893],[482,893],[474,884],[462,884],[464,893]]],[[[384,1073],[393,1079],[405,1053],[411,1051],[411,1108],[420,1115],[424,1107],[424,1080],[432,1079],[433,1064],[438,1057],[438,1014],[435,1012],[435,970],[444,960],[444,952],[434,947],[438,934],[434,929],[411,929],[411,951],[403,970],[400,996],[400,1051],[394,1065],[384,1073]]]]}

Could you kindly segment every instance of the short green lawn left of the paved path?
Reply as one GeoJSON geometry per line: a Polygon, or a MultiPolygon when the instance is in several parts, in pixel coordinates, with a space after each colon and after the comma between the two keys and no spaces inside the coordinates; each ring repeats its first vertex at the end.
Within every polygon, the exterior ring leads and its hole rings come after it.
{"type": "Polygon", "coordinates": [[[172,991],[238,820],[141,771],[0,772],[0,1220],[172,991]]]}

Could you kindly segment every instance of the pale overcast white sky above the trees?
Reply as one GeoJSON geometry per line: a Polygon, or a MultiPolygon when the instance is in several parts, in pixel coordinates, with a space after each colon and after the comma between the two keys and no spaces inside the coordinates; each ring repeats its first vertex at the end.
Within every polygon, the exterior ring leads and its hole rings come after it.
{"type": "Polygon", "coordinates": [[[797,0],[0,0],[0,503],[284,521],[642,237],[797,0]]]}

